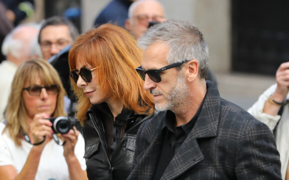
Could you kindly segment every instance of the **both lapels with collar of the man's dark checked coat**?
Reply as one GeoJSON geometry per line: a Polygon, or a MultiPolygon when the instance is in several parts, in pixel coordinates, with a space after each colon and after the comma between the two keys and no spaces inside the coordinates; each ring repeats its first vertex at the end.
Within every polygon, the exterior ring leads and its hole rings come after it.
{"type": "MultiPolygon", "coordinates": [[[[199,148],[197,139],[217,136],[221,98],[212,82],[207,81],[206,85],[207,95],[198,119],[196,120],[196,124],[171,160],[161,180],[174,179],[202,161],[204,156],[199,148]]],[[[149,166],[156,166],[155,164],[157,164],[154,159],[158,159],[157,156],[159,156],[160,151],[155,152],[155,150],[161,149],[161,143],[159,141],[161,141],[160,133],[164,117],[165,112],[160,112],[151,120],[151,123],[148,124],[146,128],[147,131],[142,134],[143,138],[150,144],[147,150],[149,151],[150,149],[151,152],[154,152],[152,154],[150,152],[150,155],[147,154],[150,157],[144,156],[150,159],[147,162],[152,162],[149,166]]]]}

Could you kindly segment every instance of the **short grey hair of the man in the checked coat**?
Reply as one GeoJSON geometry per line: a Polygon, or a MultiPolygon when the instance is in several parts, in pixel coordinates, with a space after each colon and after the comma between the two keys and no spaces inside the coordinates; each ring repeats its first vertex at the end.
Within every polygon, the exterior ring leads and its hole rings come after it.
{"type": "Polygon", "coordinates": [[[167,20],[149,28],[138,40],[141,49],[155,42],[168,45],[166,60],[169,64],[195,59],[199,62],[199,77],[206,78],[209,48],[202,32],[187,21],[167,20]]]}

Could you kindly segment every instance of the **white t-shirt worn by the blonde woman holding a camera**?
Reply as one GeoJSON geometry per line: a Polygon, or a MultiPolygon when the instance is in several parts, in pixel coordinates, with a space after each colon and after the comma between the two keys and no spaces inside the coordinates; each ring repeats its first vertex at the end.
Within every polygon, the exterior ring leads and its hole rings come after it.
{"type": "MultiPolygon", "coordinates": [[[[6,132],[2,135],[3,128],[3,123],[0,123],[0,166],[12,165],[16,172],[20,173],[33,145],[22,140],[22,146],[17,147],[6,132]]],[[[86,170],[82,135],[78,136],[75,155],[82,170],[86,170]]],[[[57,145],[53,139],[43,149],[35,180],[69,180],[63,147],[57,145]]]]}

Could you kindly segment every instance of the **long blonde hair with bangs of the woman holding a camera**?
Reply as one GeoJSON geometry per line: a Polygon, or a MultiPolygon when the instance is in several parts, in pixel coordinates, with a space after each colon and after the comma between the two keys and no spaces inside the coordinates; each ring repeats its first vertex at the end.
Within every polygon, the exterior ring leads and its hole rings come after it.
{"type": "Polygon", "coordinates": [[[55,111],[51,116],[56,117],[65,115],[64,96],[66,91],[63,88],[57,71],[51,64],[43,59],[31,59],[23,62],[14,75],[9,101],[5,112],[6,127],[4,131],[8,130],[9,136],[17,146],[21,145],[21,129],[25,133],[29,131],[22,91],[23,88],[25,88],[24,85],[26,82],[29,82],[30,86],[33,87],[36,74],[39,75],[44,86],[49,86],[51,84],[59,85],[60,90],[57,95],[55,111]]]}

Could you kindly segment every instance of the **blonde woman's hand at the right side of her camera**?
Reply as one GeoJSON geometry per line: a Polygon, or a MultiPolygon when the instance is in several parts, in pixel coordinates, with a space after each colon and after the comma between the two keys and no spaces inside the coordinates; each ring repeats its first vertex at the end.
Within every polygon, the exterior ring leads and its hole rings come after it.
{"type": "Polygon", "coordinates": [[[75,158],[74,148],[77,143],[77,138],[79,135],[79,131],[73,126],[73,130],[71,129],[67,134],[61,135],[63,137],[63,141],[66,143],[63,145],[63,156],[65,159],[67,158],[75,158]]]}

